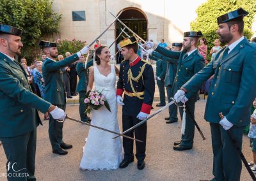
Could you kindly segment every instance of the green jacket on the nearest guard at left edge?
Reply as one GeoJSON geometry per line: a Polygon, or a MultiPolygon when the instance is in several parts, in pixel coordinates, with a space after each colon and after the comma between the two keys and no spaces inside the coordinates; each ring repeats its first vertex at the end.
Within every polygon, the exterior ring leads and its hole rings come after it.
{"type": "Polygon", "coordinates": [[[0,137],[19,136],[42,124],[37,110],[45,113],[50,103],[31,92],[27,75],[0,52],[0,137]]]}

